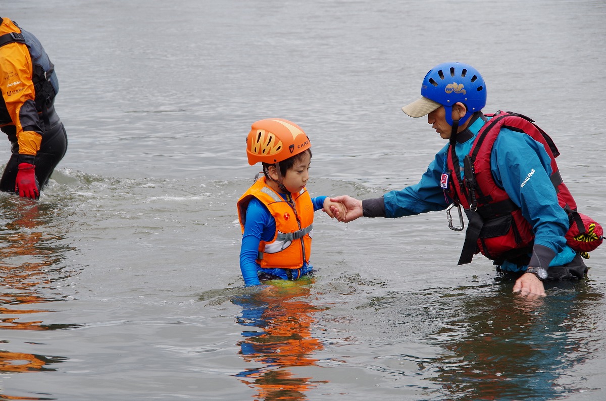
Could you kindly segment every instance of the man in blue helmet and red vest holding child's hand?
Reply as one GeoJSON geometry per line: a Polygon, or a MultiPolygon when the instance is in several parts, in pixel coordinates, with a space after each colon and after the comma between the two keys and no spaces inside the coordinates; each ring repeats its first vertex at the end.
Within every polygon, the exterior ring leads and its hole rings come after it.
{"type": "Polygon", "coordinates": [[[530,297],[545,296],[542,280],[584,277],[587,267],[564,237],[564,207],[575,205],[559,178],[551,139],[524,116],[483,114],[486,85],[471,65],[436,65],[421,94],[402,110],[415,118],[427,115],[448,144],[418,184],[376,199],[335,197],[347,207],[345,216],[335,216],[345,222],[410,216],[454,202],[469,220],[459,264],[480,251],[498,270],[521,274],[513,290],[530,297]]]}

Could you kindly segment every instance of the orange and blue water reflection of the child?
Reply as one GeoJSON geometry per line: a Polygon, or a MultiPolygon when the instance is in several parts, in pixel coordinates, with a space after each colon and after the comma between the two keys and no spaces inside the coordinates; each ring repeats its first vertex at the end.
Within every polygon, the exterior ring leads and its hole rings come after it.
{"type": "Polygon", "coordinates": [[[245,326],[239,354],[260,367],[247,369],[236,377],[258,392],[255,400],[307,400],[305,392],[325,381],[296,377],[295,366],[315,366],[313,353],[322,350],[320,340],[311,336],[313,313],[324,310],[308,302],[310,281],[274,282],[290,287],[272,287],[258,293],[235,297],[242,307],[238,323],[245,326]]]}

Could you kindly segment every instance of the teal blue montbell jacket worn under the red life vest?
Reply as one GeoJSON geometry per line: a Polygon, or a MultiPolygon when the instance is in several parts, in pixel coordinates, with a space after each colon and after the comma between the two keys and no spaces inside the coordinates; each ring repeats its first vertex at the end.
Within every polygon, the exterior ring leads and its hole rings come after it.
{"type": "MultiPolygon", "coordinates": [[[[461,177],[464,174],[464,157],[470,152],[471,145],[484,124],[481,118],[476,117],[468,126],[467,134],[463,134],[465,131],[459,133],[458,138],[466,139],[465,142],[456,142],[455,145],[461,165],[461,177]]],[[[418,184],[384,194],[384,217],[444,210],[450,205],[452,200],[440,187],[447,152],[448,145],[436,154],[418,184]]],[[[533,228],[535,239],[530,265],[546,267],[570,262],[574,251],[566,245],[564,238],[568,230],[568,216],[558,204],[556,190],[550,180],[551,159],[543,145],[527,134],[502,128],[494,141],[490,165],[496,184],[521,208],[522,216],[533,228]],[[530,180],[522,185],[533,169],[535,172],[530,180]]],[[[501,268],[505,271],[519,271],[525,270],[526,267],[505,262],[501,268]]]]}

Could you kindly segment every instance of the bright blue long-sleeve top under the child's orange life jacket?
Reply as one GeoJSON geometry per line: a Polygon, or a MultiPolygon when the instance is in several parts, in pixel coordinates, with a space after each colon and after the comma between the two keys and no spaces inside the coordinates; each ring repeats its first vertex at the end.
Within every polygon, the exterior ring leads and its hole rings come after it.
{"type": "MultiPolygon", "coordinates": [[[[280,194],[286,199],[285,194],[280,194]]],[[[311,198],[313,211],[324,207],[326,196],[316,196],[311,198]]],[[[242,245],[240,248],[240,270],[244,283],[247,286],[259,285],[257,269],[261,268],[256,262],[259,254],[259,243],[261,241],[270,242],[276,234],[276,220],[271,216],[270,211],[265,207],[261,200],[253,198],[248,204],[246,210],[246,220],[244,223],[244,233],[242,234],[242,245]]],[[[307,262],[303,262],[303,270],[307,267],[307,262]]]]}

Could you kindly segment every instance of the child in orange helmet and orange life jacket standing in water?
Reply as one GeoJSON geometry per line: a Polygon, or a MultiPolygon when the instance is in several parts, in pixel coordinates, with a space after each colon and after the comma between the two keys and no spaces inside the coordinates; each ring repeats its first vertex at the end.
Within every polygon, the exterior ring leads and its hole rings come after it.
{"type": "Polygon", "coordinates": [[[313,212],[344,205],[326,196],[311,198],[311,143],[298,125],[285,119],[263,119],[252,125],[246,139],[248,164],[262,162],[264,176],[238,200],[242,226],[240,269],[247,286],[261,280],[296,280],[310,274],[313,212]]]}

